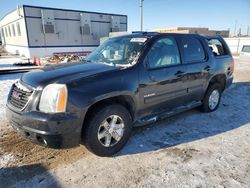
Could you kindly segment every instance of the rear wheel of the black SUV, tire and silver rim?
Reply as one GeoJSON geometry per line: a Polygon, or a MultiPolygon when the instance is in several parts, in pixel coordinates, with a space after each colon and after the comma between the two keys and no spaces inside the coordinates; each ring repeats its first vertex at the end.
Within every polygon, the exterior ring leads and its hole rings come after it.
{"type": "MultiPolygon", "coordinates": [[[[217,108],[220,105],[221,93],[222,93],[222,88],[221,88],[220,84],[215,83],[215,84],[212,84],[211,86],[209,86],[209,88],[205,94],[205,97],[202,100],[201,111],[213,112],[213,111],[217,110],[217,108]],[[216,103],[216,101],[217,101],[217,103],[215,105],[212,105],[213,100],[211,99],[212,98],[211,95],[216,95],[216,92],[218,94],[218,101],[214,100],[214,103],[216,103]]],[[[215,98],[217,98],[217,97],[215,97],[215,98]]]]}

